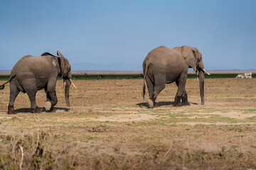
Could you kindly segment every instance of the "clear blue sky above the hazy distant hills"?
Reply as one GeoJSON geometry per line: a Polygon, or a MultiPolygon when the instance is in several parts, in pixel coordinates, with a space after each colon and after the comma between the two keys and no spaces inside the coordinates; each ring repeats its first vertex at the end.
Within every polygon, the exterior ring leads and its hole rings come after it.
{"type": "MultiPolygon", "coordinates": [[[[142,65],[198,47],[206,69],[256,69],[256,1],[0,1],[1,65],[57,50],[70,64],[142,65]]],[[[1,69],[1,68],[0,68],[1,69]]]]}

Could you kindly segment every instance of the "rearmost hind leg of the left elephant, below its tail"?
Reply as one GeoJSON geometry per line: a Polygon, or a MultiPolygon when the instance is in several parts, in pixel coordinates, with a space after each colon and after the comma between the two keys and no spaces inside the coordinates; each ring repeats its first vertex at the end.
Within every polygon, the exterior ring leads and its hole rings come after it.
{"type": "Polygon", "coordinates": [[[8,112],[7,112],[7,114],[9,115],[16,114],[16,112],[14,111],[14,102],[19,92],[20,91],[18,90],[18,87],[16,86],[14,81],[11,81],[10,82],[10,99],[9,99],[9,106],[8,106],[8,112]]]}

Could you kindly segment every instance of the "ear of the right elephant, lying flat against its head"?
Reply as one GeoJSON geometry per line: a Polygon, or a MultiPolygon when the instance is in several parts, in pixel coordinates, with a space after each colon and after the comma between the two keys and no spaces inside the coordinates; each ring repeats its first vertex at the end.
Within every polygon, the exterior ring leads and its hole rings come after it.
{"type": "Polygon", "coordinates": [[[196,72],[196,58],[195,58],[195,52],[193,51],[193,48],[188,46],[183,46],[181,48],[181,53],[185,58],[188,66],[193,68],[193,70],[195,70],[196,72]]]}

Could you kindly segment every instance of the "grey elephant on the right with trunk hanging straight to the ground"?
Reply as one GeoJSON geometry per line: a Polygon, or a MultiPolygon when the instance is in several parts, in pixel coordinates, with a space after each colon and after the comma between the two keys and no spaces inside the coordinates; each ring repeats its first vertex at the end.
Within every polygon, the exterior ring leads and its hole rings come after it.
{"type": "Polygon", "coordinates": [[[172,49],[160,46],[151,50],[143,62],[144,83],[143,98],[145,95],[145,81],[149,90],[149,108],[154,108],[156,97],[164,89],[165,84],[174,81],[178,91],[174,99],[174,106],[188,106],[188,96],[185,89],[188,68],[193,68],[199,76],[201,104],[204,104],[204,74],[202,54],[196,47],[174,47],[172,49]],[[182,101],[182,103],[181,103],[182,101]]]}

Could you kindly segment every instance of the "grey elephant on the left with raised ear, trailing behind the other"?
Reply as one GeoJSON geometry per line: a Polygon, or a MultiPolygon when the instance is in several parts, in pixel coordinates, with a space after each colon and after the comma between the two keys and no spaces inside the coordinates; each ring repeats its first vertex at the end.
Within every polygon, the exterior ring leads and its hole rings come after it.
{"type": "MultiPolygon", "coordinates": [[[[70,106],[69,89],[70,84],[73,84],[70,72],[71,67],[68,60],[59,51],[57,55],[59,57],[45,52],[38,57],[26,55],[21,60],[18,60],[11,70],[9,80],[4,83],[10,82],[8,114],[16,113],[14,111],[14,101],[20,91],[28,94],[32,113],[40,113],[42,108],[38,108],[36,105],[36,93],[41,89],[46,91],[46,111],[51,111],[58,102],[55,91],[57,77],[63,77],[65,82],[65,101],[67,106],[70,106]]],[[[4,84],[0,86],[0,89],[4,89],[4,84]]],[[[75,84],[73,86],[75,87],[75,84]]]]}

